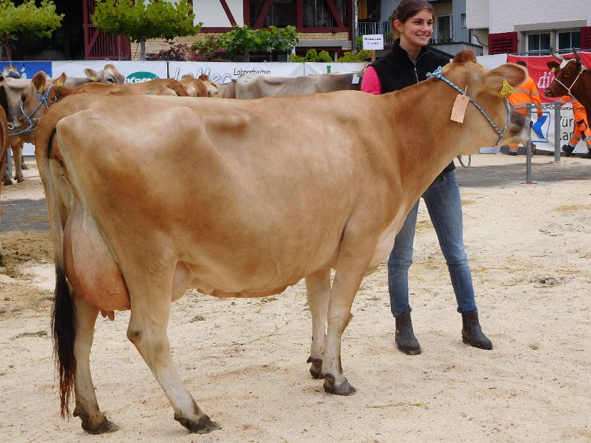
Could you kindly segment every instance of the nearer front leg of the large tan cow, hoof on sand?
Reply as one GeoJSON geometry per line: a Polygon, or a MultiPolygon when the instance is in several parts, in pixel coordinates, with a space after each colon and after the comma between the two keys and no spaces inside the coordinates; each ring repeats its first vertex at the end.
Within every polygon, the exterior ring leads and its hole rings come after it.
{"type": "MultiPolygon", "coordinates": [[[[363,236],[357,236],[362,238],[363,236]]],[[[328,305],[327,347],[322,360],[324,390],[332,394],[351,395],[355,388],[347,382],[341,365],[341,338],[352,318],[351,306],[375,248],[369,242],[352,242],[345,234],[337,262],[337,272],[330,290],[328,305]]]]}

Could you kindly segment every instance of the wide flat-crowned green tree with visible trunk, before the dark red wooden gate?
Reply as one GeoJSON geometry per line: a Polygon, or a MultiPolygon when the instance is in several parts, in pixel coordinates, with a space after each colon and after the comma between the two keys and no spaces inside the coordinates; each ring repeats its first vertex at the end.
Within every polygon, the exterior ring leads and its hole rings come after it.
{"type": "Polygon", "coordinates": [[[105,34],[123,35],[139,43],[140,59],[146,59],[146,39],[172,40],[201,31],[194,25],[193,6],[187,0],[172,1],[99,1],[91,21],[105,34]]]}

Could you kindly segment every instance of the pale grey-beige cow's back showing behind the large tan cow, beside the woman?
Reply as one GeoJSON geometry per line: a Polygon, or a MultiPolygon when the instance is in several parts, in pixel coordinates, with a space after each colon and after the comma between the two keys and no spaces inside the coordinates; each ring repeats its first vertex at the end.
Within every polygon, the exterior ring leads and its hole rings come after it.
{"type": "Polygon", "coordinates": [[[351,74],[312,74],[280,77],[265,74],[243,74],[234,84],[237,99],[317,94],[319,92],[361,89],[362,72],[351,74]]]}

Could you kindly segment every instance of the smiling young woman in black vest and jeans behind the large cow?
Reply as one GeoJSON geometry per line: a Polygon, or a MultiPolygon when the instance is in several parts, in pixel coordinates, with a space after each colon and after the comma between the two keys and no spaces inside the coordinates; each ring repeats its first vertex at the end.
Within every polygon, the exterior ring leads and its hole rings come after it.
{"type": "MultiPolygon", "coordinates": [[[[370,94],[397,91],[426,79],[427,72],[449,63],[450,59],[426,47],[433,33],[433,21],[433,7],[427,1],[402,0],[392,12],[392,30],[399,34],[399,39],[394,42],[392,52],[367,67],[362,91],[370,94]]],[[[457,311],[462,314],[462,341],[480,349],[492,349],[478,320],[472,274],[464,250],[460,188],[454,169],[452,161],[424,191],[422,198],[450,271],[457,311]]],[[[406,354],[421,352],[412,331],[408,299],[408,270],[412,264],[419,201],[409,211],[388,259],[388,290],[392,315],[396,319],[396,345],[406,354]]]]}

